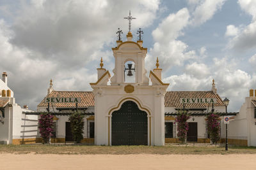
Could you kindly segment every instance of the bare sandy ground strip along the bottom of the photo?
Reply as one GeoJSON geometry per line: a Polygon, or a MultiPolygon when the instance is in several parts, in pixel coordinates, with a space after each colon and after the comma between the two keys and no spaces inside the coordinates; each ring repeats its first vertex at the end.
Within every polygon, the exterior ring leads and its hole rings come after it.
{"type": "Polygon", "coordinates": [[[256,155],[0,154],[0,169],[256,169],[256,155]]]}

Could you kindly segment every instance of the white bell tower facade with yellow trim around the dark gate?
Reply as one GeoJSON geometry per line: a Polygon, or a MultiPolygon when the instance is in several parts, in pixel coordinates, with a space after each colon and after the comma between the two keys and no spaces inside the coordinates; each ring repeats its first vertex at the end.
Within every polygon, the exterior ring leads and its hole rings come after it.
{"type": "MultiPolygon", "coordinates": [[[[134,42],[129,31],[127,41],[123,42],[120,37],[122,31],[118,30],[118,41],[116,47],[112,48],[115,57],[113,76],[104,69],[101,60],[97,69],[98,80],[90,83],[95,100],[95,144],[162,146],[164,145],[164,95],[169,84],[161,80],[162,69],[159,68],[157,59],[156,68],[149,73],[152,82],[152,85],[149,85],[145,69],[147,48],[143,47],[141,35],[140,39],[134,42]],[[131,76],[134,76],[134,81],[125,81],[131,76]],[[115,113],[109,114],[113,108],[118,108],[118,103],[124,99],[129,101],[122,103],[115,113]],[[150,110],[150,113],[140,106],[150,110]],[[124,133],[120,132],[120,129],[123,129],[124,133]],[[140,129],[140,132],[136,129],[140,129]],[[123,135],[127,135],[125,141],[120,139],[123,135]],[[137,140],[136,136],[140,139],[137,140]],[[111,143],[112,139],[113,143],[111,143]]],[[[141,34],[142,31],[139,32],[141,34]]]]}

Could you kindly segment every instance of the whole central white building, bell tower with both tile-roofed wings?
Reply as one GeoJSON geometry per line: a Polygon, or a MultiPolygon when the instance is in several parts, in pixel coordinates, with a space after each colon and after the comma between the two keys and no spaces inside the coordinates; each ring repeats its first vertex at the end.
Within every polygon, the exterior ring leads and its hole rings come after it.
{"type": "MultiPolygon", "coordinates": [[[[205,115],[212,109],[225,113],[214,81],[209,91],[166,92],[169,84],[161,80],[162,69],[159,68],[158,59],[156,69],[148,74],[145,69],[147,48],[143,47],[143,41],[132,41],[131,32],[127,34],[127,41],[116,41],[116,47],[112,50],[115,57],[114,74],[111,76],[103,68],[101,60],[97,69],[98,80],[90,83],[93,92],[56,91],[51,81],[46,96],[81,97],[78,110],[87,114],[84,118],[84,138],[95,137],[96,145],[164,145],[164,138],[177,136],[174,122],[177,112],[183,109],[180,104],[182,97],[217,99],[213,108],[212,104],[186,104],[185,110],[192,113],[188,120],[188,136],[193,138],[207,136],[205,115]]],[[[68,113],[75,108],[74,103],[50,105],[49,111],[54,112],[56,117],[56,136],[70,136],[68,113]]],[[[38,104],[37,110],[47,111],[44,99],[38,104]]]]}

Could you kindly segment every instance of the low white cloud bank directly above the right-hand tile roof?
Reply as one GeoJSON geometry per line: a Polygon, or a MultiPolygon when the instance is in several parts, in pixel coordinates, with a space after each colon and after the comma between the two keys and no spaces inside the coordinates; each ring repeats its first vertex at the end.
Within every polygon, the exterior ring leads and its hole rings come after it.
{"type": "Polygon", "coordinates": [[[218,94],[230,99],[229,111],[239,111],[248,90],[256,85],[256,75],[237,69],[237,65],[227,58],[214,58],[211,65],[189,64],[185,73],[169,76],[163,81],[170,83],[168,90],[211,90],[212,78],[218,94]],[[200,70],[206,70],[207,74],[203,75],[200,70]]]}

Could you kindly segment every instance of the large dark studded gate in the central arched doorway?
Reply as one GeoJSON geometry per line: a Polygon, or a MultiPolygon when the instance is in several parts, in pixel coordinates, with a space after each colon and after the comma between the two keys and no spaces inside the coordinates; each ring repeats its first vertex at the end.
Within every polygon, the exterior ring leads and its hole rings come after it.
{"type": "Polygon", "coordinates": [[[148,118],[133,101],[112,113],[112,145],[148,145],[148,118]]]}

